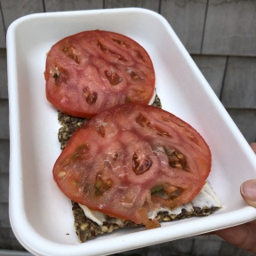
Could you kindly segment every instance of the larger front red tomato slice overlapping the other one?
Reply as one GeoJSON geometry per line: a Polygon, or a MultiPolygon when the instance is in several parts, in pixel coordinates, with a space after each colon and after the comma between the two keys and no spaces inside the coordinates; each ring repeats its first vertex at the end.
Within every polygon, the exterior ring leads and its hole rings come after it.
{"type": "Polygon", "coordinates": [[[187,204],[203,188],[211,151],[161,108],[124,104],[76,130],[53,167],[60,190],[91,210],[156,228],[147,213],[187,204]]]}

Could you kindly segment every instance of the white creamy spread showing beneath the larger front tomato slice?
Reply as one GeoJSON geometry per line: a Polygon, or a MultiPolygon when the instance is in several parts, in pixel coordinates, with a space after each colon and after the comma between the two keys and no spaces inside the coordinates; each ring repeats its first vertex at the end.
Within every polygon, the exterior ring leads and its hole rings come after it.
{"type": "MultiPolygon", "coordinates": [[[[84,215],[88,219],[96,222],[98,225],[102,226],[103,222],[107,220],[106,215],[104,213],[91,211],[88,207],[81,204],[79,205],[83,209],[84,215]]],[[[180,205],[179,207],[176,207],[175,209],[172,209],[172,210],[166,207],[161,207],[160,209],[156,209],[155,211],[148,212],[148,218],[153,220],[154,218],[156,218],[156,215],[158,212],[168,212],[170,216],[177,216],[181,213],[182,209],[186,209],[187,212],[193,212],[194,211],[193,207],[199,207],[201,209],[221,207],[220,199],[213,191],[209,182],[205,183],[204,188],[202,188],[202,190],[199,192],[199,194],[191,203],[180,205]]],[[[122,223],[123,223],[123,221],[119,219],[113,219],[113,220],[110,220],[110,222],[116,223],[119,226],[122,226],[122,223]]]]}

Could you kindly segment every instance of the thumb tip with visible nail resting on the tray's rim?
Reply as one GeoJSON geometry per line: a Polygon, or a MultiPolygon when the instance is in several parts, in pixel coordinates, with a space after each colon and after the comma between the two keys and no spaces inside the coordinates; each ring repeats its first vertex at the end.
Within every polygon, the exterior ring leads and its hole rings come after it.
{"type": "Polygon", "coordinates": [[[256,180],[244,181],[241,185],[240,193],[247,204],[256,207],[256,180]]]}

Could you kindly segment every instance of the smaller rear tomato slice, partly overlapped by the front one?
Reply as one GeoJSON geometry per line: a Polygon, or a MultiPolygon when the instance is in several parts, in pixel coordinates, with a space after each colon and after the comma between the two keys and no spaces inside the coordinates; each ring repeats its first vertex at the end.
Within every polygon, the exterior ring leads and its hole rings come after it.
{"type": "Polygon", "coordinates": [[[54,44],[44,72],[46,98],[70,116],[92,117],[127,102],[148,104],[155,71],[148,52],[132,38],[90,30],[54,44]]]}

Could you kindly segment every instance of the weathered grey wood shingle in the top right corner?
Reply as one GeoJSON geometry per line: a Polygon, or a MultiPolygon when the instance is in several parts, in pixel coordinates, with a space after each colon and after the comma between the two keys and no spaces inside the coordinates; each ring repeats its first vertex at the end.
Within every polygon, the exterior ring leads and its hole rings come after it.
{"type": "Polygon", "coordinates": [[[254,0],[209,1],[202,53],[256,56],[255,14],[254,0]]]}

